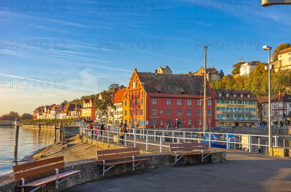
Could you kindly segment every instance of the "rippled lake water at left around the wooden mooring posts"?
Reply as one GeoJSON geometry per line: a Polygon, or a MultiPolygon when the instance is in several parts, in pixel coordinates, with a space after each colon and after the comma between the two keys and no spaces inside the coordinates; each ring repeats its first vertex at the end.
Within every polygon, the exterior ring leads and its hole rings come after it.
{"type": "MultiPolygon", "coordinates": [[[[13,172],[15,133],[16,126],[0,126],[0,176],[13,172]]],[[[42,128],[39,131],[39,129],[20,126],[17,161],[50,144],[53,144],[53,129],[42,128]]]]}

